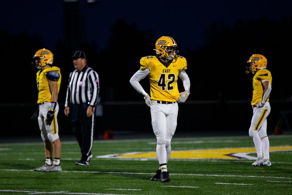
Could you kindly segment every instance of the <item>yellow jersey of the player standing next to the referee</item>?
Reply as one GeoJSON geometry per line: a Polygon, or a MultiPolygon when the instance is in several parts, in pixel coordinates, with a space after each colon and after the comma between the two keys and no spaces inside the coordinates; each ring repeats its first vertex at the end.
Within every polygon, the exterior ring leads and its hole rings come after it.
{"type": "Polygon", "coordinates": [[[52,99],[52,94],[50,92],[49,82],[47,80],[47,73],[50,71],[56,71],[57,73],[60,74],[60,78],[57,81],[58,93],[59,93],[60,85],[61,85],[60,69],[57,66],[51,66],[51,67],[48,67],[44,70],[39,70],[36,73],[36,85],[37,85],[37,90],[39,91],[38,100],[37,100],[38,104],[43,103],[45,101],[50,102],[52,99]]]}

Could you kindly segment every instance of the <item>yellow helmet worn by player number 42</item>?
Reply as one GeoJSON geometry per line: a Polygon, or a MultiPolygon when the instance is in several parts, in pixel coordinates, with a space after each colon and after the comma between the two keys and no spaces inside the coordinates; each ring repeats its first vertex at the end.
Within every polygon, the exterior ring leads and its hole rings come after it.
{"type": "Polygon", "coordinates": [[[176,62],[179,51],[177,49],[176,41],[172,37],[163,36],[160,37],[155,43],[155,49],[157,55],[161,55],[167,60],[173,60],[176,62]]]}

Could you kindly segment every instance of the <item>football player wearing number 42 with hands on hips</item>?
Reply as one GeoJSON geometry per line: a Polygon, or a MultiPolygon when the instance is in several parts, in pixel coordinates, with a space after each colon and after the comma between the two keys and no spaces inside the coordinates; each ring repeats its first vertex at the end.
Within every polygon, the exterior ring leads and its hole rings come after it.
{"type": "Polygon", "coordinates": [[[179,56],[176,41],[172,37],[160,37],[155,43],[156,56],[140,60],[140,70],[130,79],[131,85],[144,95],[151,109],[153,132],[157,138],[156,154],[159,168],[151,181],[170,182],[166,163],[169,160],[170,142],[176,131],[178,104],[189,96],[190,81],[186,74],[186,59],[179,56]],[[139,81],[149,77],[150,96],[139,81]],[[179,93],[177,79],[180,77],[185,91],[179,93]]]}

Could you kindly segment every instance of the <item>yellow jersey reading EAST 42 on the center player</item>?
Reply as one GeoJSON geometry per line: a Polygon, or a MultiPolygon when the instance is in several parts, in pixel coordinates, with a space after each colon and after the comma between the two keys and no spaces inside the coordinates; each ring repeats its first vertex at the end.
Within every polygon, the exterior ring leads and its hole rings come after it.
{"type": "Polygon", "coordinates": [[[177,79],[187,69],[186,59],[178,56],[176,62],[163,62],[159,56],[146,56],[140,60],[140,69],[149,69],[151,100],[172,101],[179,98],[177,79]]]}

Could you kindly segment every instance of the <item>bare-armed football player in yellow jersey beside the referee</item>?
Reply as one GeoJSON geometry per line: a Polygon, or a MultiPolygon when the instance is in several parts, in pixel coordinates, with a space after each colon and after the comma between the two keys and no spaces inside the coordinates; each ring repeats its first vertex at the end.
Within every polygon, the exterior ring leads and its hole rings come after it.
{"type": "Polygon", "coordinates": [[[54,55],[47,49],[36,51],[33,56],[32,66],[39,69],[36,73],[38,89],[39,116],[38,123],[41,137],[45,146],[45,165],[35,168],[35,171],[57,172],[62,171],[60,166],[61,141],[58,135],[57,103],[61,84],[61,72],[53,66],[54,55]],[[54,151],[54,161],[52,154],[54,151]]]}

